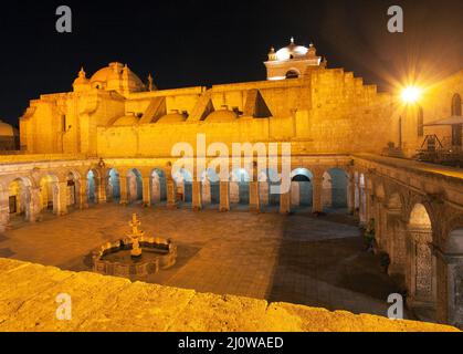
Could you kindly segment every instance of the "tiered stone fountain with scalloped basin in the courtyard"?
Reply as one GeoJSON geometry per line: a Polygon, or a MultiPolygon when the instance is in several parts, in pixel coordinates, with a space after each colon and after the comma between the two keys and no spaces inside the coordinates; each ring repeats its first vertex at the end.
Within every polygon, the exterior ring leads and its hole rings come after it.
{"type": "Polygon", "coordinates": [[[130,280],[147,280],[159,270],[176,263],[177,246],[170,239],[147,237],[134,214],[128,223],[131,228],[124,239],[107,242],[93,251],[93,271],[130,280]]]}

